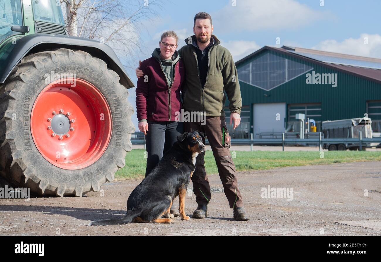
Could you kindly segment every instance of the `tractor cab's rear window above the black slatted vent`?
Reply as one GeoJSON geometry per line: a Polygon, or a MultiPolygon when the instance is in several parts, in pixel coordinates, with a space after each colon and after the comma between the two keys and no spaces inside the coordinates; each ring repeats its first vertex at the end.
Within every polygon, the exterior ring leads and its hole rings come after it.
{"type": "Polygon", "coordinates": [[[65,24],[59,0],[32,0],[34,20],[65,24]]]}

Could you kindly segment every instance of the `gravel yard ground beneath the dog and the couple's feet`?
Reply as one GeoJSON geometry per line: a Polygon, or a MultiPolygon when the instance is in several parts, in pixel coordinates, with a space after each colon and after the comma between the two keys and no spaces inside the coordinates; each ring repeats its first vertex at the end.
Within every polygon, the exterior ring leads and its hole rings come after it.
{"type": "MultiPolygon", "coordinates": [[[[208,217],[176,217],[174,224],[86,226],[123,216],[138,180],[107,183],[82,198],[0,199],[0,235],[381,235],[380,167],[375,161],[238,172],[251,216],[245,222],[232,219],[218,175],[209,176],[208,217]],[[292,188],[292,201],[262,198],[268,186],[292,188]]],[[[189,190],[186,214],[196,207],[189,190]]]]}

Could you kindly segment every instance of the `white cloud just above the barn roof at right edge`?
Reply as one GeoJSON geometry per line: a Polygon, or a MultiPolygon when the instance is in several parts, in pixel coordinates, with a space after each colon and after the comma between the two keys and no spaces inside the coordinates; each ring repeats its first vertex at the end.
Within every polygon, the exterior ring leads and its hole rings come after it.
{"type": "Polygon", "coordinates": [[[381,35],[361,34],[359,38],[348,38],[341,42],[336,40],[324,40],[312,47],[312,49],[381,58],[381,35]],[[366,37],[368,44],[364,43],[366,37]]]}

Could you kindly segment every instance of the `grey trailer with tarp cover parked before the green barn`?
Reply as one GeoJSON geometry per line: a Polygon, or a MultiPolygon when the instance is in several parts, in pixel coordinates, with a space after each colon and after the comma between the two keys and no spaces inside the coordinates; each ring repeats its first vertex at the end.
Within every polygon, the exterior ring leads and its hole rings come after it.
{"type": "MultiPolygon", "coordinates": [[[[372,136],[372,120],[368,117],[352,118],[335,121],[323,121],[322,132],[324,138],[359,138],[360,132],[362,138],[373,138],[372,136]]],[[[379,143],[364,143],[363,148],[375,147],[379,143]]],[[[359,150],[358,142],[350,143],[323,143],[323,148],[330,151],[333,150],[359,150]]]]}

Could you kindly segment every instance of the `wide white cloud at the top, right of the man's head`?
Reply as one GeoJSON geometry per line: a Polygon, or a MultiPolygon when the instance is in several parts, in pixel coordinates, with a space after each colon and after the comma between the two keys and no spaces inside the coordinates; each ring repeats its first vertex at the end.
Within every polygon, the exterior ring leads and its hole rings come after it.
{"type": "MultiPolygon", "coordinates": [[[[317,2],[319,5],[319,2],[317,2]]],[[[327,19],[329,12],[315,11],[295,0],[247,0],[229,3],[212,13],[215,24],[224,30],[295,29],[319,19],[327,19]]]]}

